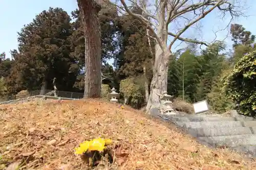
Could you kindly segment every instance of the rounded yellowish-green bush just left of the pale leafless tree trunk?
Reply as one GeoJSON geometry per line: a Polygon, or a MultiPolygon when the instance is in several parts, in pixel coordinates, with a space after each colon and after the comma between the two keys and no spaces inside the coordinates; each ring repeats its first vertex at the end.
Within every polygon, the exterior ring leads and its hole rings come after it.
{"type": "Polygon", "coordinates": [[[127,78],[120,81],[120,92],[127,104],[139,108],[144,103],[144,86],[139,78],[127,78]]]}

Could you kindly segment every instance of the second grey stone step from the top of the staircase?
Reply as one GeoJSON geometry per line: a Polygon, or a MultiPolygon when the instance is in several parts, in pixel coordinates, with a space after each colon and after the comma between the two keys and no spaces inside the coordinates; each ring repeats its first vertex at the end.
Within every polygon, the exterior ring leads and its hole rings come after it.
{"type": "Polygon", "coordinates": [[[177,126],[191,129],[201,128],[236,128],[242,127],[241,122],[222,121],[222,122],[174,122],[177,126]]]}

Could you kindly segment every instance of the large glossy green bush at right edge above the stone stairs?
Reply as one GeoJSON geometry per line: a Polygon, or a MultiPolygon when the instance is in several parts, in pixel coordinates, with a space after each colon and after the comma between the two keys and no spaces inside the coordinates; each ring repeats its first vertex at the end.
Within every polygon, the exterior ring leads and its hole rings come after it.
{"type": "Polygon", "coordinates": [[[241,114],[256,115],[256,51],[241,58],[224,77],[224,89],[241,114]]]}

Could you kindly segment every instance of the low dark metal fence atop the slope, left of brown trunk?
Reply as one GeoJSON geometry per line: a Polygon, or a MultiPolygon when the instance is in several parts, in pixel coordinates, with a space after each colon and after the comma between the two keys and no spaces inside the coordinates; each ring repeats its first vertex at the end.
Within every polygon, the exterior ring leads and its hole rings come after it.
{"type": "MultiPolygon", "coordinates": [[[[51,95],[54,96],[53,90],[45,90],[45,93],[41,93],[41,90],[35,90],[30,92],[30,96],[34,95],[51,95]],[[52,93],[51,93],[52,92],[52,93]]],[[[61,98],[72,98],[72,99],[82,99],[83,93],[77,93],[77,92],[70,92],[70,91],[56,91],[56,94],[58,97],[61,98]]]]}

